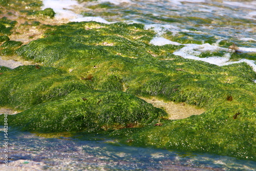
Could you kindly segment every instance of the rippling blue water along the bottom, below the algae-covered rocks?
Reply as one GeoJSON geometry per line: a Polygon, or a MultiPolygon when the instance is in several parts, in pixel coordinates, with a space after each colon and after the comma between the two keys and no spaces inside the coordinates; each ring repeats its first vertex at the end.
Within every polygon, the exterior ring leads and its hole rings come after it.
{"type": "MultiPolygon", "coordinates": [[[[2,126],[3,127],[3,126],[2,126]]],[[[3,128],[1,135],[4,135],[3,128]]],[[[3,155],[3,148],[1,149],[3,155]]],[[[254,170],[256,162],[120,145],[99,135],[45,138],[9,130],[6,170],[254,170]],[[81,139],[82,137],[82,139],[81,139]]],[[[3,158],[1,159],[3,163],[3,158]]],[[[3,165],[1,170],[5,169],[3,165]]]]}

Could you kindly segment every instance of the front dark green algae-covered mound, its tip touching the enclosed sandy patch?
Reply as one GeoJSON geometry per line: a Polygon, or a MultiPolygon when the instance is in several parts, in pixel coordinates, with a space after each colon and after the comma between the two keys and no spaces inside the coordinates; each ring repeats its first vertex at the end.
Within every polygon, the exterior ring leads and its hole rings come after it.
{"type": "Polygon", "coordinates": [[[165,114],[127,93],[87,90],[73,91],[59,100],[38,104],[8,116],[8,121],[23,131],[103,131],[143,126],[165,114]]]}

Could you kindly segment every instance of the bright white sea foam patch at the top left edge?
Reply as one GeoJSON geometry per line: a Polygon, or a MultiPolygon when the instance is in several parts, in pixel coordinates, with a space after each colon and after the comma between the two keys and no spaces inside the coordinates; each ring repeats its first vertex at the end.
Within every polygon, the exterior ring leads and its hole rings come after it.
{"type": "Polygon", "coordinates": [[[46,8],[52,8],[54,12],[56,12],[56,18],[62,19],[62,18],[79,18],[82,17],[82,15],[76,14],[71,11],[74,6],[79,6],[77,1],[73,0],[44,0],[43,1],[44,6],[42,9],[46,8]]]}

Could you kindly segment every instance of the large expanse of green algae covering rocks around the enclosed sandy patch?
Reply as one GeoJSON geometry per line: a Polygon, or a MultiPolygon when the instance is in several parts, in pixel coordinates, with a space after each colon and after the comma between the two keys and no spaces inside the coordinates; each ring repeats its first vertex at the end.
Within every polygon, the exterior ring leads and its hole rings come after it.
{"type": "Polygon", "coordinates": [[[255,160],[256,74],[246,63],[219,67],[175,56],[183,46],[149,44],[155,33],[140,24],[42,27],[45,38],[15,50],[40,66],[1,67],[0,105],[24,111],[9,115],[8,125],[37,132],[108,130],[131,145],[255,160]],[[167,120],[164,110],[136,96],[206,112],[167,120]]]}

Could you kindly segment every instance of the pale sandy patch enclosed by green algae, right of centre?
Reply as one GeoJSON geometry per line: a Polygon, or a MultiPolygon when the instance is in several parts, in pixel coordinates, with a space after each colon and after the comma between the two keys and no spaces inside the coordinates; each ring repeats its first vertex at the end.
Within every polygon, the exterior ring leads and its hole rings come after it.
{"type": "Polygon", "coordinates": [[[140,98],[153,104],[156,108],[164,109],[168,114],[168,119],[184,119],[192,115],[201,115],[205,112],[205,109],[197,108],[194,105],[186,103],[174,103],[172,101],[163,101],[157,98],[140,98]]]}

